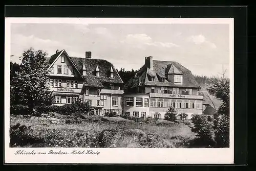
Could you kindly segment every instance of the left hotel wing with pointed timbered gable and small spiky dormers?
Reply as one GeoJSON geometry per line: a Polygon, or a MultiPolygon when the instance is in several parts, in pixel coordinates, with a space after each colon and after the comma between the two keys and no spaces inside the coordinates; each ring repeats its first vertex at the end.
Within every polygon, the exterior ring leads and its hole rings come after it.
{"type": "Polygon", "coordinates": [[[65,50],[56,51],[47,58],[50,64],[49,85],[54,95],[54,105],[78,101],[88,103],[90,114],[122,113],[123,82],[115,67],[108,61],[70,57],[65,50]]]}

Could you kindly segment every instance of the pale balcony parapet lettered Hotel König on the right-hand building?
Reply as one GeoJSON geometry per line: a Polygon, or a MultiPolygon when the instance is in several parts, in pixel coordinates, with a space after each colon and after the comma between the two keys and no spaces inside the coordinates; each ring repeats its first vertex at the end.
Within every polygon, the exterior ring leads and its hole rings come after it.
{"type": "Polygon", "coordinates": [[[150,97],[162,97],[170,99],[198,99],[203,100],[202,95],[184,95],[184,94],[163,94],[163,93],[150,93],[150,97]]]}

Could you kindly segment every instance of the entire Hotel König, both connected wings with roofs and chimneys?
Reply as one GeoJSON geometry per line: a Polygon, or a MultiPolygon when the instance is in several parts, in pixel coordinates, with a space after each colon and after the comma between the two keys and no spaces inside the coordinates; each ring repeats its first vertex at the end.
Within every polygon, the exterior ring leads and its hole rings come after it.
{"type": "Polygon", "coordinates": [[[134,117],[164,118],[169,107],[177,113],[203,114],[203,95],[191,72],[177,62],[146,57],[144,65],[125,85],[112,63],[70,57],[65,50],[47,59],[54,105],[88,103],[91,115],[115,112],[134,117]]]}

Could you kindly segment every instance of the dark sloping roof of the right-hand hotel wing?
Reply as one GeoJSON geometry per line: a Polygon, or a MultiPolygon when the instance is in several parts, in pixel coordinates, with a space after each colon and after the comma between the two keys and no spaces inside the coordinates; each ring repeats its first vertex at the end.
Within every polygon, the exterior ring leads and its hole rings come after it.
{"type": "Polygon", "coordinates": [[[146,67],[146,65],[143,65],[137,73],[138,79],[134,80],[134,78],[132,78],[124,85],[124,89],[142,85],[200,88],[191,71],[179,64],[178,62],[153,60],[152,68],[149,69],[146,67]],[[183,76],[182,84],[174,84],[173,82],[168,80],[165,80],[165,82],[161,82],[161,78],[166,78],[166,75],[169,71],[173,74],[181,74],[183,76]],[[146,75],[150,75],[151,77],[157,77],[154,81],[149,81],[146,75]]]}

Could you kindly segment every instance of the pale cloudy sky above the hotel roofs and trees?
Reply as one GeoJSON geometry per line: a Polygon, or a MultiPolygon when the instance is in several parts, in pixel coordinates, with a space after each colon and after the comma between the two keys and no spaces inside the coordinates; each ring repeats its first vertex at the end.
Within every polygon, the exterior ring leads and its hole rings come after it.
{"type": "Polygon", "coordinates": [[[71,57],[105,59],[115,68],[139,69],[145,57],[176,61],[199,76],[229,77],[228,24],[12,23],[11,61],[33,47],[48,56],[65,49],[71,57]]]}

